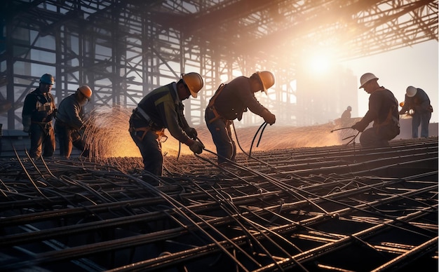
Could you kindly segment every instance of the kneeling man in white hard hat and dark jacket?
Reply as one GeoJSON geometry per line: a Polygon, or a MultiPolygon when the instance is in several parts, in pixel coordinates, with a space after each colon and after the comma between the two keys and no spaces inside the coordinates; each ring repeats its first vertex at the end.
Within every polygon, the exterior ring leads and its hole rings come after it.
{"type": "Polygon", "coordinates": [[[369,110],[352,128],[363,132],[360,136],[363,147],[388,147],[389,141],[400,132],[398,100],[390,90],[379,86],[377,80],[372,73],[365,73],[360,78],[360,88],[370,94],[369,110]],[[365,130],[372,121],[372,128],[365,130]]]}

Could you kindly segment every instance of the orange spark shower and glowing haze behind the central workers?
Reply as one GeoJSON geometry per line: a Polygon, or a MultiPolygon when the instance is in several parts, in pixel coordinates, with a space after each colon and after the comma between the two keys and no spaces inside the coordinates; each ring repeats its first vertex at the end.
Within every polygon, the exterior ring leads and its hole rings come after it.
{"type": "MultiPolygon", "coordinates": [[[[90,112],[84,135],[86,136],[86,145],[90,149],[90,155],[93,159],[107,161],[109,158],[117,157],[141,157],[139,149],[128,132],[128,121],[132,111],[133,108],[113,106],[97,107],[90,112]]],[[[343,144],[340,133],[330,132],[332,129],[339,127],[340,125],[337,122],[302,128],[276,126],[276,124],[267,126],[259,146],[255,147],[256,144],[254,144],[252,150],[269,151],[343,144]]],[[[205,148],[215,152],[215,145],[212,143],[212,137],[205,124],[195,126],[195,128],[205,148]]],[[[237,141],[245,152],[250,150],[252,138],[256,131],[257,126],[237,129],[237,141]]],[[[179,147],[179,142],[169,134],[168,130],[165,130],[165,133],[168,139],[162,144],[164,155],[177,156],[179,148],[181,155],[192,154],[186,145],[181,144],[181,147],[179,147]]],[[[238,149],[238,152],[241,152],[241,150],[238,149]]]]}

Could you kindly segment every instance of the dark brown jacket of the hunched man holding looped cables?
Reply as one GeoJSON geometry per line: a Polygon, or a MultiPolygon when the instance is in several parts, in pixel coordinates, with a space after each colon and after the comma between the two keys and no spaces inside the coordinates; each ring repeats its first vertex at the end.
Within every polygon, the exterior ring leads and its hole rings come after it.
{"type": "Polygon", "coordinates": [[[243,112],[247,109],[259,116],[262,116],[264,111],[268,111],[256,100],[255,93],[250,88],[250,79],[245,76],[238,76],[227,83],[215,98],[214,106],[227,120],[238,118],[241,121],[243,112]]]}

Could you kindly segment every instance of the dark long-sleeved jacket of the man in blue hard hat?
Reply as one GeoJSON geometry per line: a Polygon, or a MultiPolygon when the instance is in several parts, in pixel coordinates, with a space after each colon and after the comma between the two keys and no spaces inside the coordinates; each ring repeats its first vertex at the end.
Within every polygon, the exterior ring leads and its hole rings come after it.
{"type": "Polygon", "coordinates": [[[51,93],[41,93],[39,88],[26,95],[22,111],[22,124],[26,128],[32,122],[48,123],[55,114],[55,100],[51,93]]]}

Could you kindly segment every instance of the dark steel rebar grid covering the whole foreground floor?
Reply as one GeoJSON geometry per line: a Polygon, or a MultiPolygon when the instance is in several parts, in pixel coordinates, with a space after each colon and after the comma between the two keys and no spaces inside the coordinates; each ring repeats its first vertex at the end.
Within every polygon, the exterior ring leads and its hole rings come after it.
{"type": "Polygon", "coordinates": [[[433,138],[239,154],[225,168],[210,154],[166,157],[157,187],[137,168],[5,159],[0,266],[378,271],[420,260],[435,268],[437,152],[433,138]]]}

